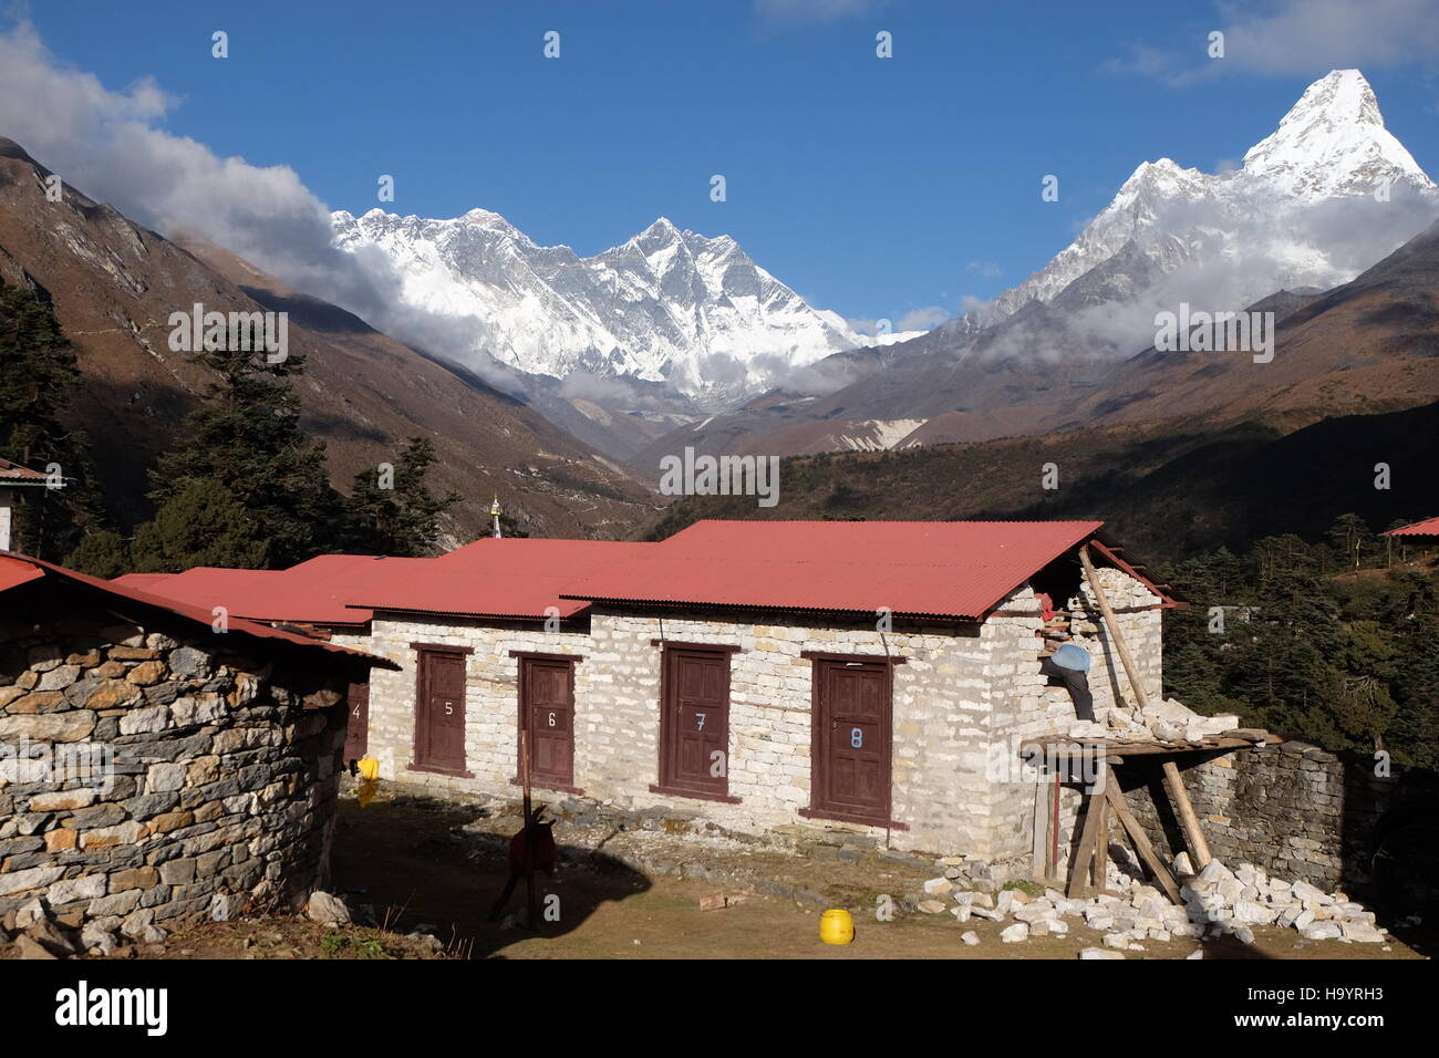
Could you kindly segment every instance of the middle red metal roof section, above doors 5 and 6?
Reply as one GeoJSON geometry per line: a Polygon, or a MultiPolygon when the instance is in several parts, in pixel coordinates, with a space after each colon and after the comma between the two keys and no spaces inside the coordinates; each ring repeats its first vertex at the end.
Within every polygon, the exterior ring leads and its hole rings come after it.
{"type": "Polygon", "coordinates": [[[478,618],[544,618],[553,606],[558,616],[570,618],[589,603],[563,597],[563,587],[653,547],[658,544],[482,537],[430,559],[426,567],[376,582],[351,602],[371,610],[478,618]]]}

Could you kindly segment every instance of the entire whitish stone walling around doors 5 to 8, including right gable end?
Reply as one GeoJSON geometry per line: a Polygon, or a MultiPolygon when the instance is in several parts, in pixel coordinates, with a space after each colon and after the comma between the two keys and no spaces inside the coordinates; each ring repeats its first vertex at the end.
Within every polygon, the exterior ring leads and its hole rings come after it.
{"type": "MultiPolygon", "coordinates": [[[[1101,570],[1115,607],[1150,606],[1154,596],[1120,570],[1101,570]]],[[[791,615],[653,612],[594,606],[587,629],[544,632],[538,623],[478,625],[463,619],[377,615],[368,636],[337,635],[390,658],[370,682],[368,751],[384,777],[435,789],[514,792],[518,666],[511,651],[576,654],[574,783],[586,796],[625,808],[691,808],[721,826],[758,832],[825,826],[884,835],[837,820],[806,819],[810,803],[810,684],[803,651],[884,658],[894,668],[892,815],[907,831],[891,845],[986,858],[1013,858],[1027,871],[1035,785],[1019,769],[1019,743],[1068,731],[1073,705],[1039,672],[1038,600],[1022,587],[983,625],[895,622],[881,641],[873,620],[791,615]],[[773,623],[781,620],[784,623],[773,623]],[[662,628],[663,626],[663,628],[662,628]],[[738,805],[653,793],[659,779],[661,651],[650,641],[732,645],[730,671],[730,795],[738,805]],[[466,769],[473,777],[416,772],[416,651],[412,642],[469,648],[466,656],[466,769]]],[[[1108,708],[1118,659],[1108,635],[1081,612],[1076,641],[1091,651],[1095,707],[1108,708]]],[[[1158,610],[1121,613],[1141,668],[1158,688],[1158,610]]],[[[1122,684],[1127,688],[1127,682],[1122,684]]],[[[1072,818],[1078,797],[1066,800],[1072,818]]]]}

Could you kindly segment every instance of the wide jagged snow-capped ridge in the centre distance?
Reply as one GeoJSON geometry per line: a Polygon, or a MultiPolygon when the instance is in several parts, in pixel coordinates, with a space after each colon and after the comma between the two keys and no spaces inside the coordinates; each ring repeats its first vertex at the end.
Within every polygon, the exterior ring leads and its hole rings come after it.
{"type": "Polygon", "coordinates": [[[331,219],[338,246],[386,255],[406,304],[469,320],[471,353],[531,374],[666,381],[718,404],[875,343],[810,308],[730,236],[663,217],[593,258],[540,246],[482,209],[452,220],[378,209],[331,219]]]}

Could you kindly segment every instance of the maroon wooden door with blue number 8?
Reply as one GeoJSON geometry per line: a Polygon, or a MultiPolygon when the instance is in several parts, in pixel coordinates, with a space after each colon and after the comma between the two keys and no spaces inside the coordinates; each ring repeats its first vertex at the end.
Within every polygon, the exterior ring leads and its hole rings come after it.
{"type": "Polygon", "coordinates": [[[814,810],[888,822],[888,666],[816,661],[814,679],[814,810]]]}

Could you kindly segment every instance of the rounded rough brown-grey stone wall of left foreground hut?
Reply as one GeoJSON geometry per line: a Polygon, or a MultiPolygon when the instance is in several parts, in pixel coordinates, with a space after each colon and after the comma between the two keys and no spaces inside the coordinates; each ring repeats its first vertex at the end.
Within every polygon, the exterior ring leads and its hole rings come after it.
{"type": "Polygon", "coordinates": [[[328,869],[355,664],[98,597],[53,580],[6,596],[0,920],[39,898],[145,937],[302,901],[328,869]]]}

